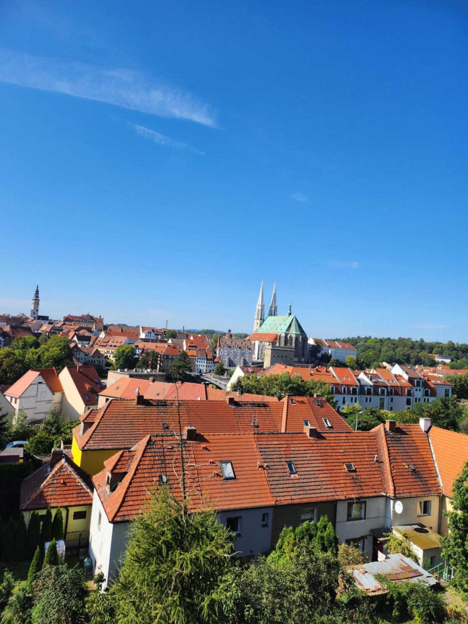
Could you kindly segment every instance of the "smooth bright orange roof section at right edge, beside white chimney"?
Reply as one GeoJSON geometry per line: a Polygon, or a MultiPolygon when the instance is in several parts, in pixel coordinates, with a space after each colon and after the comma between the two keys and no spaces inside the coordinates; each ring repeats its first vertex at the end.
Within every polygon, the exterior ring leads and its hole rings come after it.
{"type": "Polygon", "coordinates": [[[439,427],[429,429],[444,494],[452,497],[454,480],[468,462],[468,436],[439,427]]]}

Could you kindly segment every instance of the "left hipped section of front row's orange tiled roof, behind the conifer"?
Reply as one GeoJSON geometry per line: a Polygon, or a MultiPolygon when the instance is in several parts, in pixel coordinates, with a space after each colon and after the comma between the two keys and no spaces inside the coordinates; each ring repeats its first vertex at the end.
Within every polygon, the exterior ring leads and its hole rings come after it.
{"type": "MultiPolygon", "coordinates": [[[[245,509],[272,504],[265,470],[258,469],[260,456],[251,434],[210,434],[183,442],[187,468],[186,481],[190,507],[203,502],[215,509],[245,509]],[[235,479],[224,480],[220,461],[231,461],[235,479]]],[[[120,452],[105,462],[94,475],[97,494],[111,522],[125,522],[140,513],[150,490],[157,487],[160,475],[167,477],[173,494],[180,500],[181,473],[177,438],[146,436],[130,451],[120,452]],[[105,485],[107,471],[124,478],[113,491],[105,485]]]]}

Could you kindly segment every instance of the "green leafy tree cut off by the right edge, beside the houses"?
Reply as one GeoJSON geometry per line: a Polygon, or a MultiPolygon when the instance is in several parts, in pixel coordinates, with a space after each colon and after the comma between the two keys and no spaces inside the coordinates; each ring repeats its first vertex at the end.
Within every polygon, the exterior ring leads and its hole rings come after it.
{"type": "Polygon", "coordinates": [[[468,462],[453,485],[451,511],[445,511],[447,535],[442,537],[442,557],[455,568],[454,585],[468,593],[468,462]]]}

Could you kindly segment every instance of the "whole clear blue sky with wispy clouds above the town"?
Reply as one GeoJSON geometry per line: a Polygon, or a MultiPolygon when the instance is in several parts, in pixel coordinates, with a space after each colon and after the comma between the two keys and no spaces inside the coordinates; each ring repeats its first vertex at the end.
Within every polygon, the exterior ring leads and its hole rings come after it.
{"type": "Polygon", "coordinates": [[[0,4],[0,311],[468,341],[466,2],[0,4]]]}

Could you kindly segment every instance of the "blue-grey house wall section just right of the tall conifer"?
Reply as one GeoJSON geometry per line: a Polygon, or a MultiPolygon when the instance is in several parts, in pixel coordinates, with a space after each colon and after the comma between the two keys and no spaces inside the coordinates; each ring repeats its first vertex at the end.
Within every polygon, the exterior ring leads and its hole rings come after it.
{"type": "Polygon", "coordinates": [[[260,553],[270,550],[273,507],[222,511],[219,517],[222,524],[227,524],[228,518],[238,517],[241,519],[240,532],[239,535],[236,535],[234,542],[237,557],[256,559],[260,553]],[[268,516],[265,517],[265,514],[268,516]],[[262,519],[266,520],[264,525],[262,519]]]}

